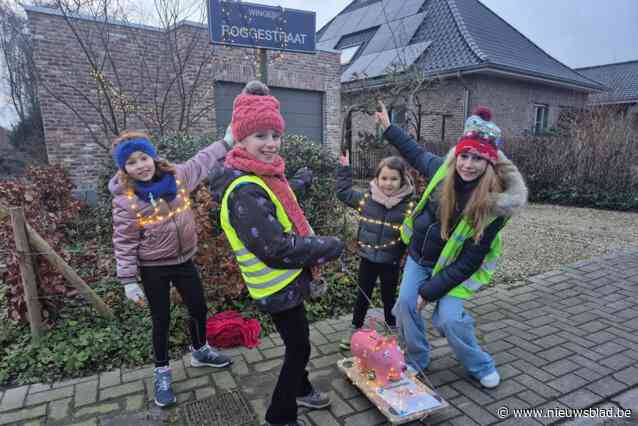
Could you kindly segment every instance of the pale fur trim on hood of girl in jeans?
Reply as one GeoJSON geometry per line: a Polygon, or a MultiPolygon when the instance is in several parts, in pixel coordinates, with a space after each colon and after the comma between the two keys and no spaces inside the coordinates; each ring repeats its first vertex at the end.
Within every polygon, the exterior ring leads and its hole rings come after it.
{"type": "MultiPolygon", "coordinates": [[[[451,157],[454,157],[454,148],[448,152],[445,161],[448,162],[451,157]]],[[[528,191],[525,179],[518,171],[518,167],[500,150],[496,164],[501,169],[504,191],[490,194],[491,213],[494,216],[515,216],[527,205],[528,191]]]]}

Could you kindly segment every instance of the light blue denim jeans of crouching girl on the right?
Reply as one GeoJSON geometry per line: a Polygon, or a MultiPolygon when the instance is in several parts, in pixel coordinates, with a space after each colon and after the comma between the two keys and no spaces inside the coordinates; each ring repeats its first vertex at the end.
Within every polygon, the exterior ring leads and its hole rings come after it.
{"type": "MultiPolygon", "coordinates": [[[[417,371],[430,363],[430,344],[425,322],[416,310],[419,287],[432,274],[432,268],[421,266],[408,256],[403,269],[399,298],[393,313],[399,333],[406,345],[406,362],[417,371]]],[[[494,360],[476,340],[474,320],[465,312],[463,299],[444,296],[438,300],[432,315],[432,325],[447,341],[459,362],[475,378],[481,379],[496,371],[494,360]]]]}

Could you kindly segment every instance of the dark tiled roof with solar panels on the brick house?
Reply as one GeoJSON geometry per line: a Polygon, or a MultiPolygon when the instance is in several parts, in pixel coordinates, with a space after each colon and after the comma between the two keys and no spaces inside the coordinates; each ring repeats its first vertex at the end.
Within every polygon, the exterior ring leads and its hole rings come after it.
{"type": "Polygon", "coordinates": [[[378,30],[360,58],[427,43],[419,59],[427,72],[491,66],[586,90],[603,89],[551,57],[478,0],[357,0],[322,29],[318,45],[332,49],[342,37],[373,27],[378,30]]]}

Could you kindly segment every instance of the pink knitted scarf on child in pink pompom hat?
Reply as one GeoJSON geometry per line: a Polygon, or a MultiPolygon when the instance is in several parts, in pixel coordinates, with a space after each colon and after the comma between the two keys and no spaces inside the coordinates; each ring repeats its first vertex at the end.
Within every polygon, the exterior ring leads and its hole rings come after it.
{"type": "Polygon", "coordinates": [[[277,155],[274,162],[270,164],[264,163],[245,149],[235,147],[226,154],[224,165],[243,172],[254,173],[262,178],[284,206],[284,210],[286,210],[286,214],[292,221],[297,235],[305,237],[312,234],[306,216],[304,216],[303,210],[299,207],[297,198],[295,198],[295,194],[292,192],[284,174],[286,163],[283,158],[277,155]]]}

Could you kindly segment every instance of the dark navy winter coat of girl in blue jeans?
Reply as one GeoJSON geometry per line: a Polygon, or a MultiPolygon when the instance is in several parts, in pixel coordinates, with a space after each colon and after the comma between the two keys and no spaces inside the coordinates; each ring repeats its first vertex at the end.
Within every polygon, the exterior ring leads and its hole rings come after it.
{"type": "MultiPolygon", "coordinates": [[[[444,161],[454,155],[454,151],[450,151],[447,158],[434,155],[419,145],[412,136],[394,125],[388,127],[384,136],[412,167],[428,179],[434,176],[444,161]]],[[[516,166],[501,151],[499,151],[497,164],[503,166],[505,186],[504,192],[493,194],[491,197],[492,215],[497,216],[497,219],[485,228],[483,237],[478,243],[468,239],[456,261],[421,285],[420,294],[426,301],[438,300],[459,283],[471,277],[481,267],[492,241],[505,225],[506,219],[516,214],[527,203],[527,187],[516,166]]],[[[432,268],[445,245],[445,241],[441,238],[441,222],[438,214],[440,186],[431,194],[426,208],[414,218],[412,239],[408,247],[408,254],[414,261],[432,268]]],[[[474,188],[473,183],[455,182],[455,189],[460,200],[456,208],[458,219],[474,188]]]]}

